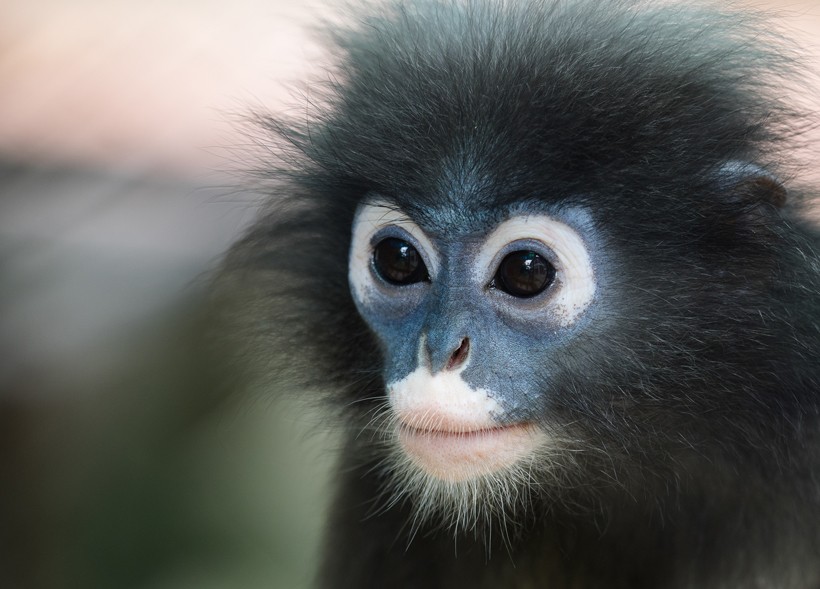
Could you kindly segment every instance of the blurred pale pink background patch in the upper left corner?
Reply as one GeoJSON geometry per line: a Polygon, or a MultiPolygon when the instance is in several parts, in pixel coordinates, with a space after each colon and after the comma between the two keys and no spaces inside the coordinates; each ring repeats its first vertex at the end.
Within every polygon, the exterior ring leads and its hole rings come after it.
{"type": "Polygon", "coordinates": [[[317,51],[309,3],[6,0],[0,156],[185,172],[221,166],[231,116],[281,106],[317,51]]]}

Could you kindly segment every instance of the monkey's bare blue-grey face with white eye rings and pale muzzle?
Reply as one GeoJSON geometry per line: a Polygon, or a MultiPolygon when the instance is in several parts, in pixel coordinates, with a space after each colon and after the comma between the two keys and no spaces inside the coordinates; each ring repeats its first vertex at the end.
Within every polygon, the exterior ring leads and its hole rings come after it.
{"type": "Polygon", "coordinates": [[[350,287],[385,358],[395,451],[414,467],[471,480],[550,444],[551,357],[596,303],[590,231],[581,209],[468,232],[425,230],[385,200],[358,208],[350,287]]]}

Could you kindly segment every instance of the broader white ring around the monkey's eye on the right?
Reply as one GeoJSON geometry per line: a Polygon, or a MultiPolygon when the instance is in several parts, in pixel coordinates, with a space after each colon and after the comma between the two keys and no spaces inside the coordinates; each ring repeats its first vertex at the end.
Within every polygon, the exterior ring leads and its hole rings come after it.
{"type": "MultiPolygon", "coordinates": [[[[572,325],[595,297],[596,281],[583,238],[575,229],[547,215],[524,215],[509,219],[493,231],[476,257],[475,276],[494,276],[498,253],[516,241],[537,241],[556,257],[556,286],[550,307],[562,327],[572,325]]],[[[552,261],[552,260],[551,260],[552,261]]]]}

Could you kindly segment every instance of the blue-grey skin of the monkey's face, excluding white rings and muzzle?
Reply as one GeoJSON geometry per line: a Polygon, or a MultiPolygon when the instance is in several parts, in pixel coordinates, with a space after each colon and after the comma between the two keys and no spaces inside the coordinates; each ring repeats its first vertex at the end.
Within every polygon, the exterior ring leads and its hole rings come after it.
{"type": "MultiPolygon", "coordinates": [[[[433,374],[445,369],[461,342],[469,339],[469,357],[462,378],[474,388],[485,389],[503,408],[493,416],[499,424],[534,420],[549,395],[552,381],[551,358],[593,320],[597,299],[571,325],[561,324],[548,302],[558,281],[532,298],[516,298],[491,286],[501,259],[512,251],[533,249],[547,259],[555,255],[531,239],[518,240],[502,248],[492,267],[476,267],[476,257],[486,238],[503,221],[518,215],[548,215],[572,227],[583,239],[593,264],[596,280],[602,259],[594,239],[594,222],[581,208],[562,207],[510,209],[499,219],[480,217],[465,223],[452,214],[414,219],[433,243],[436,252],[426,252],[400,226],[378,231],[371,246],[385,237],[412,243],[428,268],[435,255],[439,267],[430,281],[396,286],[382,280],[372,264],[370,272],[376,288],[367,303],[356,300],[359,313],[378,337],[385,357],[387,383],[403,379],[416,370],[419,361],[433,374]]],[[[600,282],[599,282],[600,284],[600,282]]],[[[355,298],[355,297],[354,297],[355,298]]]]}

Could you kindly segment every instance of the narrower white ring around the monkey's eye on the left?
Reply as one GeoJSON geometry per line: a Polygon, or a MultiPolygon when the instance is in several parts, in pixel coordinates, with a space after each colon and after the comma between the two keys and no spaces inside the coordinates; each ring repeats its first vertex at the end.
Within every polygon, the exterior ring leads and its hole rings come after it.
{"type": "Polygon", "coordinates": [[[391,226],[400,227],[420,246],[419,253],[424,258],[430,278],[433,279],[438,273],[439,261],[436,249],[424,231],[410,217],[384,200],[362,203],[353,219],[353,238],[350,244],[348,265],[348,280],[353,294],[359,301],[370,300],[370,293],[374,288],[373,274],[370,269],[373,257],[371,240],[376,233],[391,226]]]}

